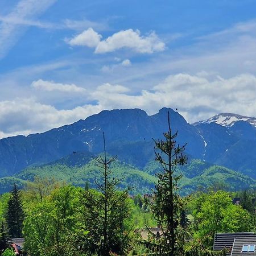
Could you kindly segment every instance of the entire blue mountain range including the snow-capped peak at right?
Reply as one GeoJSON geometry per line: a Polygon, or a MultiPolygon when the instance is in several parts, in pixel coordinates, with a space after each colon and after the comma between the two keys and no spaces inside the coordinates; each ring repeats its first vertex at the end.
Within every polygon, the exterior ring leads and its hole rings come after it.
{"type": "MultiPolygon", "coordinates": [[[[177,143],[187,143],[185,152],[190,159],[256,179],[256,118],[222,113],[189,124],[178,112],[167,108],[154,115],[141,109],[104,110],[45,133],[3,138],[0,177],[18,177],[38,166],[51,166],[56,161],[61,164],[61,159],[66,159],[62,164],[67,166],[67,159],[80,153],[89,159],[103,151],[102,131],[108,154],[118,155],[120,163],[145,172],[148,163],[154,160],[152,138],[163,138],[168,129],[167,112],[172,130],[178,131],[177,143]]],[[[80,168],[76,162],[73,165],[80,168]]]]}

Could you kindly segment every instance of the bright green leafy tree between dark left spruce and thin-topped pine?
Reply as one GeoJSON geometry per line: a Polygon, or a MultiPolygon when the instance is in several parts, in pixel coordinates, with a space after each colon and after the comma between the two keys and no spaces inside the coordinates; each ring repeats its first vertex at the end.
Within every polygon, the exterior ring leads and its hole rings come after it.
{"type": "Polygon", "coordinates": [[[32,255],[79,255],[73,234],[79,214],[80,188],[57,188],[36,204],[24,221],[25,249],[32,255]]]}

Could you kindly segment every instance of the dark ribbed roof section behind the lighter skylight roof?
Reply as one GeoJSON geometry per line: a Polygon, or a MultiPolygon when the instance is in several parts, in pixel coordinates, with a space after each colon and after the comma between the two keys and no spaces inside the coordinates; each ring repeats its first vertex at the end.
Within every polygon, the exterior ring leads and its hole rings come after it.
{"type": "MultiPolygon", "coordinates": [[[[256,234],[254,234],[253,232],[217,233],[214,237],[213,250],[221,251],[225,248],[229,251],[226,254],[227,256],[243,255],[243,254],[231,254],[235,238],[238,240],[242,239],[243,241],[251,241],[253,239],[256,239],[256,234]]],[[[242,249],[241,249],[241,251],[242,251],[242,249]]],[[[241,251],[240,251],[240,253],[241,253],[241,251]]],[[[246,255],[256,255],[256,254],[246,253],[246,255]]]]}

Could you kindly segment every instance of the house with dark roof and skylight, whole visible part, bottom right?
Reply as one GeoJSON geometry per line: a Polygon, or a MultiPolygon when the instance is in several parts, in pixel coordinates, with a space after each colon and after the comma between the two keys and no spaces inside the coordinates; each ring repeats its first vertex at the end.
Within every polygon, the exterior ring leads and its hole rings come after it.
{"type": "Polygon", "coordinates": [[[213,250],[226,249],[227,256],[256,256],[256,234],[253,232],[217,233],[213,250]]]}

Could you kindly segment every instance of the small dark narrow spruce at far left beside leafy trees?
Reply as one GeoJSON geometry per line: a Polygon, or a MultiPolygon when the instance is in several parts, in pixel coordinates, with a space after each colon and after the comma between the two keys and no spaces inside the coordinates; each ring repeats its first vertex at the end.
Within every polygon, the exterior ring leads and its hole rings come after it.
{"type": "Polygon", "coordinates": [[[16,187],[16,183],[14,183],[14,188],[11,191],[11,196],[8,201],[6,217],[10,237],[22,237],[23,220],[22,197],[19,189],[16,187]]]}

